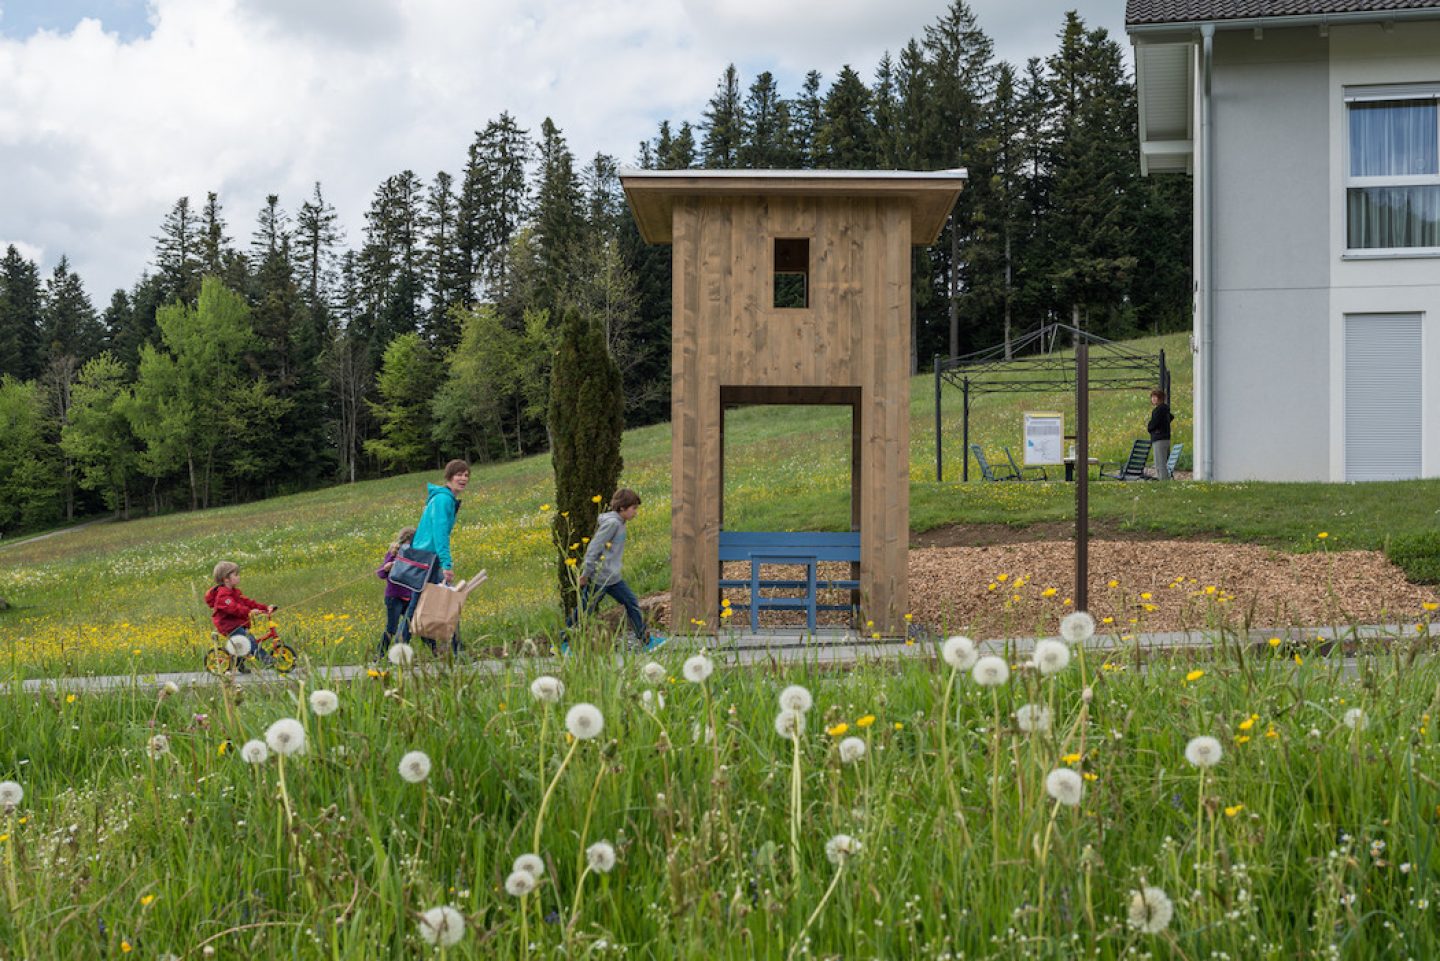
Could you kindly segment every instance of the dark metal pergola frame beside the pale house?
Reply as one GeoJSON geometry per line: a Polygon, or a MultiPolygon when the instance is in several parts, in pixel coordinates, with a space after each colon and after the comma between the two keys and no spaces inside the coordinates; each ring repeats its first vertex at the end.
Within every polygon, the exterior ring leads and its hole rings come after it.
{"type": "Polygon", "coordinates": [[[1165,352],[1140,353],[1133,347],[1097,337],[1070,324],[1044,324],[1021,334],[1009,344],[989,347],[959,357],[935,359],[935,480],[945,480],[942,455],[940,390],[949,383],[965,395],[960,480],[971,478],[971,395],[972,393],[1044,393],[1074,390],[1076,359],[1058,350],[1077,344],[1089,347],[1089,389],[1148,390],[1159,386],[1169,398],[1169,367],[1165,352]],[[1066,340],[1061,340],[1066,337],[1066,340]]]}

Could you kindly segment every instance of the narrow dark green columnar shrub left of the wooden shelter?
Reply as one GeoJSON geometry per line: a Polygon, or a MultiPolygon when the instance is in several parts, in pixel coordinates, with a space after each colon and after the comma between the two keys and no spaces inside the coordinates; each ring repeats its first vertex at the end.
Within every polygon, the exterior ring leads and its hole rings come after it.
{"type": "Polygon", "coordinates": [[[554,543],[560,604],[575,609],[583,537],[619,483],[625,390],[599,324],[567,310],[550,375],[550,461],[554,464],[554,543]],[[575,560],[575,563],[567,563],[575,560]]]}

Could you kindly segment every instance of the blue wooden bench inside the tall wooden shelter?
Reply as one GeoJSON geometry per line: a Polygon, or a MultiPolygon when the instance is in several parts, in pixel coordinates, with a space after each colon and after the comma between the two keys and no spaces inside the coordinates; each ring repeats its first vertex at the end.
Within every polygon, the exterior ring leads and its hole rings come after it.
{"type": "Polygon", "coordinates": [[[720,563],[744,562],[750,565],[749,579],[724,578],[721,566],[720,589],[747,588],[747,604],[732,604],[732,608],[749,608],[750,630],[760,630],[762,609],[802,609],[805,625],[815,630],[816,611],[850,611],[852,604],[818,604],[819,591],[858,591],[860,581],[850,578],[819,578],[816,565],[827,560],[860,563],[860,532],[773,532],[773,530],[721,530],[720,563]],[[775,579],[762,576],[765,565],[792,565],[805,568],[805,579],[775,579]],[[762,589],[804,589],[802,598],[765,596],[762,589]]]}

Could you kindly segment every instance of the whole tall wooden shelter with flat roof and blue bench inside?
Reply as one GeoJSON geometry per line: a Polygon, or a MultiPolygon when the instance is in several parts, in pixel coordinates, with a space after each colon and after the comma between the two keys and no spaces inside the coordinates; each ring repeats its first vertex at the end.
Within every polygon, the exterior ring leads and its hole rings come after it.
{"type": "MultiPolygon", "coordinates": [[[[855,591],[871,630],[901,631],[910,248],[936,241],[965,171],[625,170],[621,182],[644,239],[672,248],[672,625],[719,622],[726,546],[727,559],[752,562],[753,586],[805,584],[755,572],[808,560],[811,627],[816,558],[844,556],[858,578],[829,586],[855,591]],[[740,403],[851,408],[851,532],[841,540],[816,547],[814,535],[744,532],[726,545],[724,408],[740,403]]],[[[750,604],[760,605],[755,589],[750,604]]],[[[785,605],[798,607],[765,607],[785,605]]]]}

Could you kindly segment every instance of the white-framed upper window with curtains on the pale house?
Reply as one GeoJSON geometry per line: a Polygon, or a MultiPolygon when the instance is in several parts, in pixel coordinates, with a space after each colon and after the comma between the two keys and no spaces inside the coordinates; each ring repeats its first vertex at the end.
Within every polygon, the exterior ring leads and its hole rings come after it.
{"type": "Polygon", "coordinates": [[[1440,84],[1345,89],[1345,246],[1440,252],[1440,84]]]}

